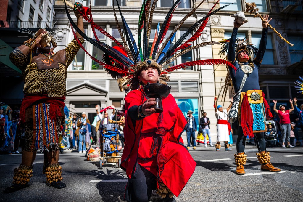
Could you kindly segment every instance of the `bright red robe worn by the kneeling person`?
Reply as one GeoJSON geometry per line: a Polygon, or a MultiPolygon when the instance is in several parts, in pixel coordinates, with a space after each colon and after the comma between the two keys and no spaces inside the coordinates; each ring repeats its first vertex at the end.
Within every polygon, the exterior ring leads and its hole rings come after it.
{"type": "Polygon", "coordinates": [[[162,100],[162,113],[132,120],[128,109],[141,105],[146,99],[140,90],[133,90],[125,97],[125,146],[121,168],[131,178],[138,162],[178,197],[196,166],[181,138],[187,121],[171,94],[162,100]]]}

